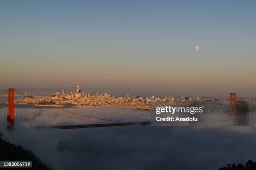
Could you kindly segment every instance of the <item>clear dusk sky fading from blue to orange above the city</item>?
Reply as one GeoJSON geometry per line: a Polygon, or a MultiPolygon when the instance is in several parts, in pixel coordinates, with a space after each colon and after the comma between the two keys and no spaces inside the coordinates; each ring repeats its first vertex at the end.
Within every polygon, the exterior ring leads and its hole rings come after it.
{"type": "Polygon", "coordinates": [[[2,0],[0,88],[255,97],[255,8],[255,0],[2,0]]]}

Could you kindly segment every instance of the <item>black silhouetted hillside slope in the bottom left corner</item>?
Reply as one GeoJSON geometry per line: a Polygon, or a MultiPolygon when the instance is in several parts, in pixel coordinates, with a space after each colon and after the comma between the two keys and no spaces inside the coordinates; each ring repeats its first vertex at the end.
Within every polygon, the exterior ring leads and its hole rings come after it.
{"type": "MultiPolygon", "coordinates": [[[[1,133],[0,133],[1,135],[1,133]]],[[[23,149],[21,146],[13,145],[8,141],[0,138],[0,161],[32,161],[32,168],[35,170],[51,170],[41,160],[37,158],[31,150],[23,149]]],[[[17,170],[19,168],[8,168],[9,170],[17,170]]],[[[21,168],[24,169],[24,168],[21,168]]]]}

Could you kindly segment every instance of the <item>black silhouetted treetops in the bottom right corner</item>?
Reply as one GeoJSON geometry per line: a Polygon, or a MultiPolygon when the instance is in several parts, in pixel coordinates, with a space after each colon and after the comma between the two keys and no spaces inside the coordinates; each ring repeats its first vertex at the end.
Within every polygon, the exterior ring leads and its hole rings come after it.
{"type": "Polygon", "coordinates": [[[248,160],[245,165],[238,163],[237,165],[233,163],[232,165],[228,164],[225,167],[219,168],[219,170],[256,170],[256,162],[248,160]]]}

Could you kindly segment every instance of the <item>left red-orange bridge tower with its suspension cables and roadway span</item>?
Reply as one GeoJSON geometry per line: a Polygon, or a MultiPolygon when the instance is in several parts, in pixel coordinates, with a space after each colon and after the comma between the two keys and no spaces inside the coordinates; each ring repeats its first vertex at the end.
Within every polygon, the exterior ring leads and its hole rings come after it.
{"type": "Polygon", "coordinates": [[[113,126],[130,126],[130,125],[147,125],[151,122],[131,122],[122,120],[110,120],[100,117],[92,117],[82,113],[77,113],[55,105],[47,105],[47,107],[14,107],[14,93],[23,95],[25,97],[38,100],[36,97],[26,95],[26,93],[15,88],[8,88],[0,92],[0,95],[8,93],[8,107],[7,107],[7,129],[13,129],[15,120],[23,117],[32,118],[33,121],[25,121],[26,126],[35,128],[60,128],[60,129],[73,129],[73,128],[97,128],[97,127],[113,127],[113,126]]]}

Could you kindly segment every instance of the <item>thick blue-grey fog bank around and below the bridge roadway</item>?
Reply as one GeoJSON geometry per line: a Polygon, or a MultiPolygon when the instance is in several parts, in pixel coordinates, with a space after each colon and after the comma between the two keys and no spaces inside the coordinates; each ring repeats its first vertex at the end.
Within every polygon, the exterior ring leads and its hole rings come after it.
{"type": "MultiPolygon", "coordinates": [[[[79,108],[88,114],[132,120],[150,119],[144,110],[79,108]]],[[[2,112],[5,109],[1,109],[2,112]]],[[[6,121],[6,120],[1,120],[6,121]]],[[[3,139],[31,149],[54,170],[70,169],[209,169],[256,160],[253,126],[129,126],[42,129],[20,126],[3,139]]]]}

